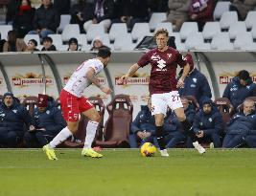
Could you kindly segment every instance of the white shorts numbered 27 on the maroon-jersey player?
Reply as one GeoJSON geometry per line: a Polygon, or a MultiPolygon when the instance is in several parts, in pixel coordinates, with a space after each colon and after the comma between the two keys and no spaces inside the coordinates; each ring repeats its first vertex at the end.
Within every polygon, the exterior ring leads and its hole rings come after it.
{"type": "Polygon", "coordinates": [[[166,115],[168,106],[172,110],[183,107],[177,91],[151,95],[151,115],[166,115]]]}

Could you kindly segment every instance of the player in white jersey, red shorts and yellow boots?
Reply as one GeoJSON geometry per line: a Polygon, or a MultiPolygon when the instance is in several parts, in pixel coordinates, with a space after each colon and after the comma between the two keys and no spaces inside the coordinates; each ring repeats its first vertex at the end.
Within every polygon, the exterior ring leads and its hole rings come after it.
{"type": "Polygon", "coordinates": [[[67,126],[58,133],[52,142],[43,146],[43,151],[46,153],[49,160],[58,160],[54,148],[78,131],[80,114],[89,119],[86,130],[84,130],[86,131],[86,137],[81,156],[92,158],[103,157],[103,155],[95,152],[91,148],[101,117],[89,100],[82,96],[82,93],[83,90],[92,83],[105,94],[112,92],[110,88],[100,84],[96,77],[107,65],[110,55],[111,52],[103,48],[98,52],[96,58],[84,61],[60,92],[59,100],[62,115],[67,122],[67,126]]]}

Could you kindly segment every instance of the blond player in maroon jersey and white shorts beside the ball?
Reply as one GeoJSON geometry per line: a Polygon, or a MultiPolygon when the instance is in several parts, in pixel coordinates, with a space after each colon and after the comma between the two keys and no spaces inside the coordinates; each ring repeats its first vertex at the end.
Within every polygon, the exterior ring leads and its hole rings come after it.
{"type": "Polygon", "coordinates": [[[160,147],[161,156],[168,157],[164,142],[163,122],[166,115],[167,107],[175,110],[175,115],[183,126],[185,133],[192,139],[193,145],[200,154],[205,149],[198,143],[198,138],[193,132],[191,123],[186,120],[183,105],[179,98],[177,88],[184,86],[184,79],[190,72],[190,65],[186,59],[167,45],[169,33],[165,29],[158,30],[154,34],[157,48],[152,49],[144,54],[137,63],[133,64],[128,73],[121,76],[123,81],[141,67],[151,64],[151,76],[149,90],[151,94],[151,115],[154,115],[156,125],[156,139],[160,147]],[[183,68],[182,76],[176,81],[176,67],[179,65],[183,68]]]}

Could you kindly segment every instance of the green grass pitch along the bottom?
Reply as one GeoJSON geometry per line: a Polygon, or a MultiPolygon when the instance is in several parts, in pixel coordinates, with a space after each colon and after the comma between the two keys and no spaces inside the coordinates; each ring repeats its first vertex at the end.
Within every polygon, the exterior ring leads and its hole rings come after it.
{"type": "Polygon", "coordinates": [[[48,161],[40,149],[0,150],[0,196],[255,196],[256,150],[169,150],[152,158],[139,150],[57,149],[48,161]]]}

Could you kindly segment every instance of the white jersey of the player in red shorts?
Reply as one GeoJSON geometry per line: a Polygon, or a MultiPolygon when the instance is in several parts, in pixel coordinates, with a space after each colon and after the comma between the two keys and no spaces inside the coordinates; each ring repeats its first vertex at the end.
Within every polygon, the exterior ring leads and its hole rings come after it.
{"type": "Polygon", "coordinates": [[[70,76],[64,90],[81,98],[84,89],[91,84],[90,80],[86,77],[89,68],[93,68],[95,75],[97,75],[104,69],[104,64],[97,58],[84,61],[73,75],[70,76]]]}

